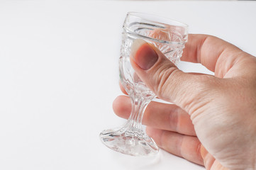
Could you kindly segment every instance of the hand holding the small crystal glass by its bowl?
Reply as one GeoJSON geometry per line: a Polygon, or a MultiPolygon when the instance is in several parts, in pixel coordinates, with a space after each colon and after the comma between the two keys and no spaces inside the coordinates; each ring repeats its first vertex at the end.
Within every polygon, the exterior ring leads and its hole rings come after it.
{"type": "MultiPolygon", "coordinates": [[[[138,77],[174,103],[150,103],[143,117],[148,135],[206,169],[256,169],[256,58],[219,38],[189,35],[182,60],[215,76],[184,73],[153,45],[133,43],[130,62],[138,77]]],[[[128,96],[116,98],[113,110],[128,118],[128,96]]]]}

